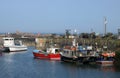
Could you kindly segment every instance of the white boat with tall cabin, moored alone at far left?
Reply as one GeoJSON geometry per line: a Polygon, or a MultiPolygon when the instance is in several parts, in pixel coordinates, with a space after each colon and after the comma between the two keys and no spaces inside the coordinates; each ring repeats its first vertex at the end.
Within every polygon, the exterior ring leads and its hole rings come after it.
{"type": "Polygon", "coordinates": [[[22,44],[22,41],[14,40],[13,37],[3,38],[4,51],[25,51],[27,46],[22,44]]]}

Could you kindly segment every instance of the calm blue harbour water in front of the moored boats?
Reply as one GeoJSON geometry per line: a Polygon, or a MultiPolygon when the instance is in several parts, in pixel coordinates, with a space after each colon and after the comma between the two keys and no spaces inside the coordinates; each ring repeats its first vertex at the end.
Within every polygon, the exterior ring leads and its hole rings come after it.
{"type": "Polygon", "coordinates": [[[120,78],[115,67],[34,59],[33,49],[0,56],[0,78],[120,78]]]}

